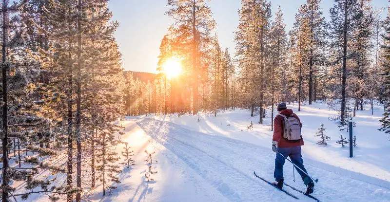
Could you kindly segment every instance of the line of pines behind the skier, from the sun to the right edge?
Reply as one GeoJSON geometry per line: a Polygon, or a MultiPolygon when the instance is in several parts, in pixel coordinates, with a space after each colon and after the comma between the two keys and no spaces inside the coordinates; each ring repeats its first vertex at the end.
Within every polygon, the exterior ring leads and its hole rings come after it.
{"type": "Polygon", "coordinates": [[[374,100],[387,99],[383,9],[374,10],[370,0],[334,0],[327,22],[320,2],[307,0],[286,30],[282,10],[272,14],[270,0],[241,0],[233,59],[213,34],[216,24],[205,0],[168,0],[166,14],[175,24],[161,40],[160,73],[155,82],[141,84],[150,94],[136,96],[143,109],[133,115],[216,115],[239,107],[261,114],[262,124],[267,114],[273,120],[278,102],[297,102],[300,110],[323,100],[340,110],[335,119],[344,125],[350,111],[354,116],[363,110],[364,100],[372,110],[374,100]],[[180,59],[183,70],[169,79],[164,62],[172,58],[180,59]]]}

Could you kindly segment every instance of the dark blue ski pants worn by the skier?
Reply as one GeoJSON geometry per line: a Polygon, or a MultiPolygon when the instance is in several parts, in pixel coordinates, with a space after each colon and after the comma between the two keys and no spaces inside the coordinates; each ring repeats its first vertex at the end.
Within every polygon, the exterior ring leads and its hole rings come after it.
{"type": "MultiPolygon", "coordinates": [[[[297,147],[278,147],[277,150],[285,157],[290,157],[292,163],[301,168],[303,171],[306,171],[305,166],[303,165],[303,159],[301,154],[301,146],[297,147]]],[[[276,153],[275,159],[275,171],[273,172],[273,177],[276,181],[283,180],[283,165],[286,162],[286,158],[276,153]]],[[[300,169],[295,168],[298,171],[299,175],[302,177],[303,182],[307,185],[310,182],[313,182],[304,172],[300,169]]]]}

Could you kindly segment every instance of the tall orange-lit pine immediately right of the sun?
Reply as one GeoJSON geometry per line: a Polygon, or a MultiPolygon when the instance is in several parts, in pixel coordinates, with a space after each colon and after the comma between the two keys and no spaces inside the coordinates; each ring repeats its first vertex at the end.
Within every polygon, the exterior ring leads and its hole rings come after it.
{"type": "Polygon", "coordinates": [[[210,8],[205,0],[168,0],[171,6],[167,15],[174,18],[177,24],[178,35],[181,36],[179,47],[186,53],[185,57],[190,62],[189,79],[192,86],[192,112],[198,112],[198,86],[199,77],[203,74],[202,60],[206,58],[206,49],[210,39],[210,31],[215,27],[210,8]]]}

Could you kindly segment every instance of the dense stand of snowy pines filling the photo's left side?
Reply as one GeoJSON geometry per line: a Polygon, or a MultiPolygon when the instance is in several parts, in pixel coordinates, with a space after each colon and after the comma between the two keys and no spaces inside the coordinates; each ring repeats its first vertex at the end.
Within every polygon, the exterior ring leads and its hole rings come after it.
{"type": "Polygon", "coordinates": [[[115,188],[125,80],[107,0],[2,0],[1,13],[2,201],[115,188]]]}

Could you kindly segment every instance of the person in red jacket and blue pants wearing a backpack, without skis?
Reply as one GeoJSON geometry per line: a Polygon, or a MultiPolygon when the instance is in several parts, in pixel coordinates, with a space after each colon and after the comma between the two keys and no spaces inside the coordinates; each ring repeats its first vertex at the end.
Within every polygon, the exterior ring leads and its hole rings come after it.
{"type": "MultiPolygon", "coordinates": [[[[273,177],[275,181],[273,185],[283,187],[283,165],[287,157],[290,157],[293,164],[308,173],[303,165],[301,154],[301,146],[304,145],[301,136],[302,123],[299,117],[293,113],[291,109],[287,109],[286,103],[282,102],[277,105],[278,114],[275,116],[273,125],[272,150],[276,153],[275,170],[273,177]],[[283,156],[282,156],[283,155],[283,156]]],[[[311,194],[314,191],[314,183],[312,179],[296,169],[302,177],[306,185],[306,194],[311,194]]]]}

